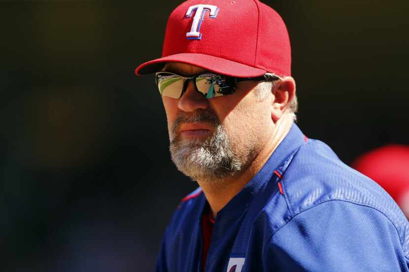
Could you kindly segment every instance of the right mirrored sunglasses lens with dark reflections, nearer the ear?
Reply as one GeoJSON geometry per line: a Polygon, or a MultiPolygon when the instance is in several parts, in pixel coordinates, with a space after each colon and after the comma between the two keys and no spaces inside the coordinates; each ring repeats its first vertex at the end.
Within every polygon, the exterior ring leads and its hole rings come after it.
{"type": "Polygon", "coordinates": [[[196,86],[206,98],[212,98],[233,93],[227,91],[232,89],[227,81],[227,78],[224,76],[208,73],[196,78],[196,86]]]}

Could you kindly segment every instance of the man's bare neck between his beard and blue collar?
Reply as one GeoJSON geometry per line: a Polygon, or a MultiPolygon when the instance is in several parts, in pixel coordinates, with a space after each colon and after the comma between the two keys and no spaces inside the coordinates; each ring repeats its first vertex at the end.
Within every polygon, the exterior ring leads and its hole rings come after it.
{"type": "Polygon", "coordinates": [[[215,182],[198,181],[210,205],[213,218],[217,212],[237,194],[260,171],[274,150],[290,131],[293,123],[292,116],[285,114],[273,128],[270,139],[248,166],[234,176],[215,182]]]}

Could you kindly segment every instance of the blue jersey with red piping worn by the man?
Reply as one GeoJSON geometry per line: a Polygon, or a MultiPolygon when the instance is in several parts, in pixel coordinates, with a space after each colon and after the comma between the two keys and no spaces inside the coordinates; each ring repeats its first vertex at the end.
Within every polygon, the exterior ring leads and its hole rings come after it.
{"type": "MultiPolygon", "coordinates": [[[[199,188],[175,211],[157,272],[202,270],[206,205],[199,188]]],[[[293,124],[217,213],[205,272],[409,272],[408,227],[380,186],[293,124]]]]}

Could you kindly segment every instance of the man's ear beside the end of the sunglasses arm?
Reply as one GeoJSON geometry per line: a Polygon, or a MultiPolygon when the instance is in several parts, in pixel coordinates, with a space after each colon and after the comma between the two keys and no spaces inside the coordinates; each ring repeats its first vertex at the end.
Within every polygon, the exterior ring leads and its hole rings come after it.
{"type": "Polygon", "coordinates": [[[295,81],[292,77],[284,77],[274,85],[274,101],[271,106],[271,118],[274,123],[278,121],[284,112],[290,107],[295,96],[295,81]]]}

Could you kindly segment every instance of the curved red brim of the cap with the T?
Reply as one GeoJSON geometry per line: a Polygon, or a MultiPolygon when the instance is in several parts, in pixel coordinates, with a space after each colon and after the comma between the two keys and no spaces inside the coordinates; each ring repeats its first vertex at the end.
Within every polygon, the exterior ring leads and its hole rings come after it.
{"type": "Polygon", "coordinates": [[[218,74],[234,77],[258,77],[267,72],[266,70],[233,60],[226,60],[205,54],[183,53],[142,63],[136,68],[135,74],[145,75],[157,72],[163,68],[166,62],[186,63],[218,74]]]}

